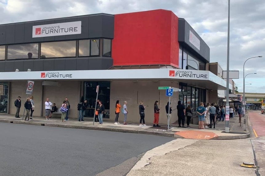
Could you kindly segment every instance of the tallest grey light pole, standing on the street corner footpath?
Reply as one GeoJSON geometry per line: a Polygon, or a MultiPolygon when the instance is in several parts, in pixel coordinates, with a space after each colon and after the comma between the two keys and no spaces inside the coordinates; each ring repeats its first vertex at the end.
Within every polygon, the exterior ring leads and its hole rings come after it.
{"type": "Polygon", "coordinates": [[[229,133],[229,44],[230,44],[230,0],[228,0],[227,25],[227,74],[226,74],[226,104],[225,104],[225,132],[229,133]]]}

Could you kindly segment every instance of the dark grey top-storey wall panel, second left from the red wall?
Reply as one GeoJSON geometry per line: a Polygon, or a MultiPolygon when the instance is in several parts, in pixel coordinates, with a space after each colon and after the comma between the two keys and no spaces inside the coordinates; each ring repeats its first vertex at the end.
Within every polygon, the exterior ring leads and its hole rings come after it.
{"type": "Polygon", "coordinates": [[[102,16],[93,15],[89,17],[89,38],[99,38],[102,36],[102,16]]]}

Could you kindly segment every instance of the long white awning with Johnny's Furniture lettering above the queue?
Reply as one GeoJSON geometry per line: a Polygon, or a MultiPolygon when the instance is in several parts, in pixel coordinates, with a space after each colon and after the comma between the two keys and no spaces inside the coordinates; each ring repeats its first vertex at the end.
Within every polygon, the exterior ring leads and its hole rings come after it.
{"type": "MultiPolygon", "coordinates": [[[[115,81],[158,80],[179,81],[209,90],[226,89],[226,81],[210,71],[182,69],[115,69],[115,70],[69,70],[0,72],[0,81],[115,81]]],[[[232,89],[232,85],[229,85],[232,89]]]]}

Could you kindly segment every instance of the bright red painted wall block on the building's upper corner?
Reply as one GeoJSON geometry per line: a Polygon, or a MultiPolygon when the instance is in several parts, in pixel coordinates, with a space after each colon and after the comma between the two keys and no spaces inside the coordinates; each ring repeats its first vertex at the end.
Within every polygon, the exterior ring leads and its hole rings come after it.
{"type": "Polygon", "coordinates": [[[178,67],[178,17],[168,10],[115,15],[112,57],[114,66],[178,67]]]}

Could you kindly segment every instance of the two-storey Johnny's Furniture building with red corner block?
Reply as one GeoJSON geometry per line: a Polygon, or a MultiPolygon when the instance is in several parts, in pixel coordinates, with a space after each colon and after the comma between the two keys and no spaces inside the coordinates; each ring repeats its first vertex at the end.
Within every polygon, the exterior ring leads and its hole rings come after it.
{"type": "Polygon", "coordinates": [[[210,49],[196,31],[172,11],[152,10],[118,15],[93,14],[0,25],[0,113],[15,114],[18,96],[25,102],[27,81],[34,81],[34,115],[44,115],[49,98],[57,107],[67,97],[69,117],[77,118],[81,96],[88,100],[85,117],[92,118],[98,99],[104,118],[115,118],[115,102],[128,102],[128,121],[138,122],[139,101],[152,123],[153,104],[166,123],[168,97],[158,87],[173,87],[176,105],[196,108],[209,90],[226,82],[208,71],[210,49]]]}

